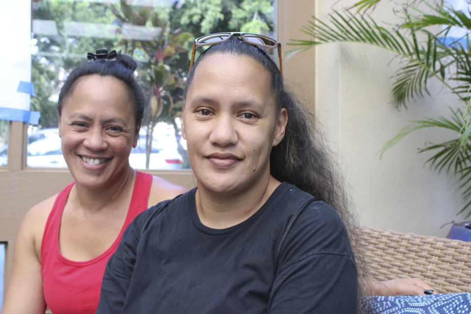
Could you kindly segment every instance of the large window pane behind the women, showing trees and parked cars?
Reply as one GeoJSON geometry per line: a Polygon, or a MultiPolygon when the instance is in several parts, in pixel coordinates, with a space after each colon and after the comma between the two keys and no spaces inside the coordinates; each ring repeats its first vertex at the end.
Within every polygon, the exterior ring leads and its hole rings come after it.
{"type": "Polygon", "coordinates": [[[272,35],[274,29],[273,0],[39,0],[31,17],[31,109],[41,117],[28,129],[28,167],[66,167],[58,93],[87,52],[105,47],[139,62],[137,78],[149,104],[131,166],[189,168],[180,113],[193,38],[228,30],[272,35]]]}

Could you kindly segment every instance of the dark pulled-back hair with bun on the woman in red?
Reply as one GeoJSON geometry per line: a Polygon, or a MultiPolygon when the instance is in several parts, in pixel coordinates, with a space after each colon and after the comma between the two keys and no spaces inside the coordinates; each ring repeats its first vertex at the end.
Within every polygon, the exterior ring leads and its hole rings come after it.
{"type": "Polygon", "coordinates": [[[128,87],[128,92],[133,101],[133,111],[136,126],[144,115],[144,95],[134,78],[134,71],[137,69],[137,62],[129,55],[118,53],[115,60],[100,59],[89,61],[75,68],[62,85],[57,102],[57,111],[62,113],[62,106],[70,96],[78,78],[99,75],[117,78],[128,87]]]}

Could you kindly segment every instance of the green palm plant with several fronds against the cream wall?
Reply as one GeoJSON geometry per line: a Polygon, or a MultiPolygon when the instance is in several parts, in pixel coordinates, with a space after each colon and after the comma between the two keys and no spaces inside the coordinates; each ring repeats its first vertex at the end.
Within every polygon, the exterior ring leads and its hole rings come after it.
{"type": "MultiPolygon", "coordinates": [[[[327,43],[363,43],[394,52],[401,67],[392,83],[392,101],[396,107],[406,106],[411,98],[428,94],[430,78],[439,80],[446,90],[456,96],[461,105],[450,107],[449,116],[411,121],[380,150],[380,157],[407,134],[424,128],[441,128],[457,136],[444,143],[432,144],[419,152],[432,151],[426,163],[437,172],[442,170],[458,176],[466,205],[459,213],[471,215],[471,18],[443,2],[427,4],[423,13],[409,2],[402,7],[399,24],[385,27],[368,15],[368,10],[380,0],[361,0],[350,8],[334,10],[326,19],[312,17],[301,28],[310,40],[292,40],[293,52],[327,43]],[[465,31],[461,38],[450,35],[451,27],[465,31]],[[438,29],[438,31],[433,31],[438,29]]],[[[417,1],[421,2],[421,1],[417,1]]],[[[471,4],[471,0],[467,0],[471,4]]]]}

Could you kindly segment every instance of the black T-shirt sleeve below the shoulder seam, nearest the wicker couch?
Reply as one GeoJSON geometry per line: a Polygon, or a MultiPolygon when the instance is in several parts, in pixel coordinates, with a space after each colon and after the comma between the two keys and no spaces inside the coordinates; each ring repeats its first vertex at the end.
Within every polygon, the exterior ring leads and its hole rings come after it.
{"type": "Polygon", "coordinates": [[[346,256],[308,256],[282,270],[268,313],[357,313],[357,272],[346,256]]]}

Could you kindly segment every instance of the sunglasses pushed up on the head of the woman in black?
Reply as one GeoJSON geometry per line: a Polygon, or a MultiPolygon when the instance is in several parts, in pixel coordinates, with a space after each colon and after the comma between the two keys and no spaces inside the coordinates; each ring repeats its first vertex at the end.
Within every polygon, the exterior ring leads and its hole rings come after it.
{"type": "Polygon", "coordinates": [[[270,37],[266,37],[259,34],[240,33],[240,32],[214,33],[214,34],[209,34],[209,35],[196,38],[195,41],[193,42],[193,51],[191,52],[190,68],[188,72],[193,67],[193,62],[195,60],[196,47],[220,44],[233,38],[233,36],[240,37],[240,39],[244,43],[247,43],[250,45],[259,46],[265,49],[277,49],[280,73],[283,79],[283,65],[281,62],[281,44],[270,37]]]}

